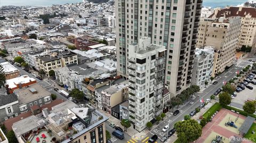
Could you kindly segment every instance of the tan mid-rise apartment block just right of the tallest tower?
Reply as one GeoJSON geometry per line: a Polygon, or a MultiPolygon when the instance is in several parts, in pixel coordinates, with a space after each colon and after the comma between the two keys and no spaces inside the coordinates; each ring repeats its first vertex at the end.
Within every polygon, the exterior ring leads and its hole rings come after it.
{"type": "Polygon", "coordinates": [[[201,19],[196,46],[198,48],[215,47],[212,77],[215,77],[218,72],[225,71],[225,68],[230,67],[235,60],[240,29],[239,16],[226,19],[201,19]]]}

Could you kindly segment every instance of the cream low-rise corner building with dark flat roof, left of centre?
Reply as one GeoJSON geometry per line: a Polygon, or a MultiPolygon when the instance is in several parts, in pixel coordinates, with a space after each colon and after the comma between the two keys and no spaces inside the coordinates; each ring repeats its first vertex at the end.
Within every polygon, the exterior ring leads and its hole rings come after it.
{"type": "Polygon", "coordinates": [[[45,55],[36,60],[37,69],[44,70],[47,76],[50,70],[60,69],[74,63],[78,64],[77,55],[74,53],[62,53],[57,56],[45,55]]]}

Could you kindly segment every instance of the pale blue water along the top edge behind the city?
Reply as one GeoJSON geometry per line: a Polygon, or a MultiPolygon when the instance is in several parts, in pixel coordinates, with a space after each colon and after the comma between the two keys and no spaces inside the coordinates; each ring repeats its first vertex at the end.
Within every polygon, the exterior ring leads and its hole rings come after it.
{"type": "MultiPolygon", "coordinates": [[[[185,1],[185,0],[180,0],[185,1]]],[[[3,5],[33,5],[33,6],[50,6],[53,4],[79,3],[82,0],[0,0],[0,6],[3,5]]],[[[227,5],[237,6],[246,0],[203,0],[204,6],[225,7],[227,5]]]]}

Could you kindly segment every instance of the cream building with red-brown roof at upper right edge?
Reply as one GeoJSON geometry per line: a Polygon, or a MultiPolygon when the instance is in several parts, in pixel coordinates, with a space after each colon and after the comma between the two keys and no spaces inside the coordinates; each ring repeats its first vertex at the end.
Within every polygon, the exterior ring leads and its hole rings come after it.
{"type": "Polygon", "coordinates": [[[256,43],[256,9],[254,7],[226,7],[215,9],[209,18],[230,18],[239,16],[241,18],[241,31],[239,31],[237,48],[242,45],[255,46],[256,43]]]}

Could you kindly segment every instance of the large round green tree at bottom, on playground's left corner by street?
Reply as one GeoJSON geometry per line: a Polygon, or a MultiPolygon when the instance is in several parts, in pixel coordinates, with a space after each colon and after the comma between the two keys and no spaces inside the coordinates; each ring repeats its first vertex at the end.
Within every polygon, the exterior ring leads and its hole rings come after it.
{"type": "Polygon", "coordinates": [[[179,121],[174,124],[178,138],[185,138],[182,142],[193,142],[201,137],[202,126],[194,119],[179,121]]]}

